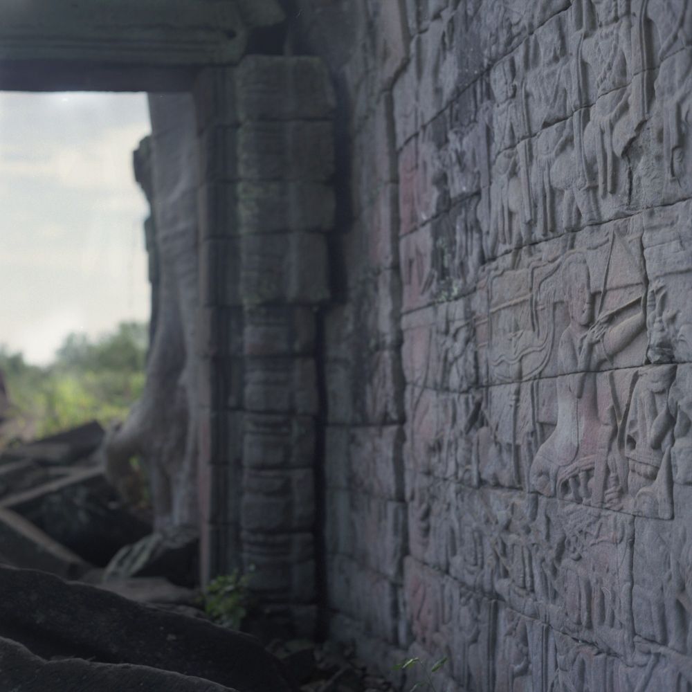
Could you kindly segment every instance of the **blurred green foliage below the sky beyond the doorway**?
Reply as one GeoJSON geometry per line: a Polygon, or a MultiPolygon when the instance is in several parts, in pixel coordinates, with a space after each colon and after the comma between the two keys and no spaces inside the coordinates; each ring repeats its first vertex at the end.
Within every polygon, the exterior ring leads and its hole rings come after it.
{"type": "Polygon", "coordinates": [[[0,347],[14,429],[42,437],[91,419],[103,425],[125,419],[144,387],[146,352],[147,326],[136,322],[93,341],[71,334],[48,367],[0,347]]]}

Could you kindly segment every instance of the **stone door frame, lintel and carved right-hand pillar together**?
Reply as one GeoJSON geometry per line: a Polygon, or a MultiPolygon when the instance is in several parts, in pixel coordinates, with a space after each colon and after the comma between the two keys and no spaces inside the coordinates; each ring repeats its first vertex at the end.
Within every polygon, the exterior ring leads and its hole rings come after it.
{"type": "MultiPolygon", "coordinates": [[[[80,2],[12,6],[0,26],[0,89],[175,92],[176,104],[161,101],[162,122],[183,113],[193,134],[176,140],[189,145],[189,165],[171,163],[165,147],[157,163],[154,136],[152,188],[154,217],[171,222],[171,237],[183,218],[194,230],[192,246],[166,244],[171,263],[184,265],[172,291],[196,299],[166,322],[189,358],[184,367],[163,358],[149,372],[147,383],[165,391],[131,419],[161,415],[165,444],[182,452],[152,494],[166,500],[161,525],[199,527],[201,581],[254,564],[276,619],[311,632],[324,603],[316,334],[331,300],[331,78],[318,58],[267,53],[266,30],[286,21],[273,0],[165,4],[165,24],[160,3],[112,3],[107,22],[80,2]],[[199,177],[185,179],[193,171],[199,177]],[[174,194],[158,194],[157,175],[174,194]],[[194,214],[181,212],[193,203],[194,214]]],[[[165,354],[171,342],[162,342],[165,354]]],[[[111,440],[116,467],[132,454],[132,427],[111,440]]]]}

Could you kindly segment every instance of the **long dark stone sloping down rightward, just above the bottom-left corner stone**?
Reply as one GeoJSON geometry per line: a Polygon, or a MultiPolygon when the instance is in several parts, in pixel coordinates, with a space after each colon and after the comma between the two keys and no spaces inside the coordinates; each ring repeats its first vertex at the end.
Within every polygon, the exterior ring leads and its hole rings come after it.
{"type": "Polygon", "coordinates": [[[0,637],[44,658],[148,666],[241,692],[291,689],[252,637],[42,572],[0,567],[0,637]]]}

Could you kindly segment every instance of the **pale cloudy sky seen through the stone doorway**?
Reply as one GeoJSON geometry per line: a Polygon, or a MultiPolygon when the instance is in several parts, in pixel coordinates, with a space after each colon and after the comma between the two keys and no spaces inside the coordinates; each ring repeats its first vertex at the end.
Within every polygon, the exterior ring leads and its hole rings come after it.
{"type": "Polygon", "coordinates": [[[149,319],[132,152],[150,129],[141,93],[0,92],[0,344],[28,362],[149,319]]]}

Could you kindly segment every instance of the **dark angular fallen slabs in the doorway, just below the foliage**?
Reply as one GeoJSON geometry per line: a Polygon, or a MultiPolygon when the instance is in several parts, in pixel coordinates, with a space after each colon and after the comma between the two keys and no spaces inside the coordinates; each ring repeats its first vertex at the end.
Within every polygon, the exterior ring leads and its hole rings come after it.
{"type": "Polygon", "coordinates": [[[76,579],[149,534],[147,518],[125,507],[106,480],[95,456],[103,437],[92,422],[3,450],[3,563],[76,579]]]}

